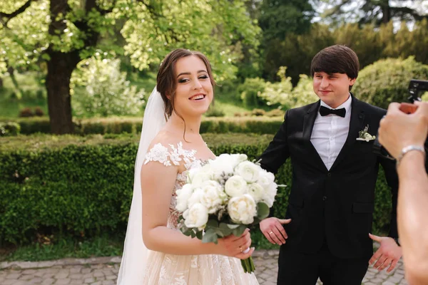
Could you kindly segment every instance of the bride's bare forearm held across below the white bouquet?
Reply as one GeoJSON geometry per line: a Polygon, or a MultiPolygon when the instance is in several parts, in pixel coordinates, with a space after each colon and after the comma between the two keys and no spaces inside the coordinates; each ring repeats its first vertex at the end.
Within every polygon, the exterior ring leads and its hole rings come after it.
{"type": "Polygon", "coordinates": [[[163,226],[143,234],[143,241],[148,249],[165,254],[218,254],[218,247],[213,242],[202,243],[200,239],[186,237],[178,230],[163,226]]]}

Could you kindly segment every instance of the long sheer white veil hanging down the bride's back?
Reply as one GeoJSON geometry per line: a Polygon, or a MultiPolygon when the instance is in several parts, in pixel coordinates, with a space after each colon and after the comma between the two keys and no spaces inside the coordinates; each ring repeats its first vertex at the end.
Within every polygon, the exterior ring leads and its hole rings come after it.
{"type": "Polygon", "coordinates": [[[148,249],[143,243],[143,201],[141,195],[141,167],[144,157],[153,138],[165,125],[165,106],[161,93],[155,88],[148,98],[143,117],[140,144],[136,158],[133,197],[129,212],[128,228],[123,249],[121,268],[119,269],[117,285],[141,285],[146,272],[148,249]]]}

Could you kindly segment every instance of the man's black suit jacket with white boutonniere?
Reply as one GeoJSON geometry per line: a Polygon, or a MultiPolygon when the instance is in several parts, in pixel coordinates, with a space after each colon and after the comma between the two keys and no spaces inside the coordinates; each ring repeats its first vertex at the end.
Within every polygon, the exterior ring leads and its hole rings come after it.
{"type": "Polygon", "coordinates": [[[287,247],[315,253],[326,240],[330,252],[340,258],[372,255],[374,187],[379,164],[392,193],[390,237],[397,237],[398,178],[395,162],[373,153],[373,140],[356,140],[360,130],[377,134],[386,110],[352,96],[350,130],[330,171],[310,142],[320,101],[288,110],[285,121],[261,158],[265,170],[276,173],[287,160],[292,163],[292,185],[285,217],[287,247]]]}

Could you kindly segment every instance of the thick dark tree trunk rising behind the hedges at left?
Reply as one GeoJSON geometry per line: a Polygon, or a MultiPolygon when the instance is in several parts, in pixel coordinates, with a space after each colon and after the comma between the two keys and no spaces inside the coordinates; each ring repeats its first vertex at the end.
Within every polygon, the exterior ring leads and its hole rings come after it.
{"type": "Polygon", "coordinates": [[[46,90],[48,92],[48,109],[51,132],[56,135],[73,133],[71,116],[70,78],[80,61],[78,51],[61,53],[48,51],[46,90]]]}

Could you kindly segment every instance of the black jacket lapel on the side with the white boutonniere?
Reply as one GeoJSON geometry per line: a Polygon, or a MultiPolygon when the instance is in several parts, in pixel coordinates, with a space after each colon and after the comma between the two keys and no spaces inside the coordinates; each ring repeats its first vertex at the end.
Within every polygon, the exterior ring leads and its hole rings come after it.
{"type": "Polygon", "coordinates": [[[330,170],[333,170],[335,167],[337,167],[337,165],[339,165],[343,158],[347,155],[347,152],[349,152],[352,146],[355,145],[355,142],[358,138],[358,132],[364,129],[364,118],[365,113],[364,110],[362,110],[361,102],[352,96],[350,130],[348,132],[345,144],[343,145],[342,150],[340,150],[339,155],[337,155],[337,158],[330,170]]]}

